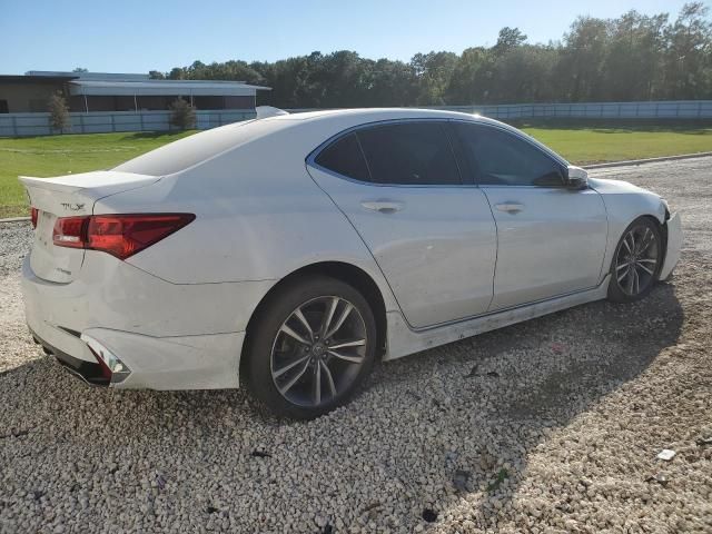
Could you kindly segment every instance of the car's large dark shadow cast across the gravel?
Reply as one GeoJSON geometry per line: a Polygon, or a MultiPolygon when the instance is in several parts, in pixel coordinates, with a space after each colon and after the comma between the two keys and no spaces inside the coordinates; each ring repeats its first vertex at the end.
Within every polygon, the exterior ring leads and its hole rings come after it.
{"type": "MultiPolygon", "coordinates": [[[[633,305],[593,303],[384,364],[353,404],[310,423],[266,417],[241,390],[92,389],[42,358],[0,376],[0,497],[42,517],[49,501],[23,492],[57,503],[101,485],[129,516],[149,506],[147,530],[171,506],[230,525],[279,506],[411,531],[457,498],[488,523],[542,439],[644,372],[682,322],[661,284],[633,305]]],[[[110,507],[92,498],[77,521],[110,507]]]]}

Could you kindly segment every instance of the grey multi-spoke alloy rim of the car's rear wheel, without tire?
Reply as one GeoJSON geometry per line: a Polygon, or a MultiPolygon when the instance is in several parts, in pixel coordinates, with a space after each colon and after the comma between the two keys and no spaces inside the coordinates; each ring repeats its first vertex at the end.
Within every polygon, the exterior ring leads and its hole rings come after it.
{"type": "Polygon", "coordinates": [[[330,403],[356,380],[367,344],[356,306],[336,296],[310,299],[291,312],[277,332],[269,363],[273,382],[291,404],[330,403]]]}

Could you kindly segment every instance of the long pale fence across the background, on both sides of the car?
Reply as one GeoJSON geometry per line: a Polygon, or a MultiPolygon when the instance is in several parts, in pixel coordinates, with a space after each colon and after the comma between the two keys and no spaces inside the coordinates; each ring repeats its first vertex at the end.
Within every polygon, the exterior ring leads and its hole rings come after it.
{"type": "MultiPolygon", "coordinates": [[[[508,103],[496,106],[439,106],[478,113],[500,120],[561,119],[712,119],[712,100],[653,102],[508,103]]],[[[291,109],[291,112],[313,111],[291,109]]],[[[170,131],[170,111],[91,111],[71,115],[71,134],[109,131],[170,131]]],[[[255,118],[251,110],[198,110],[196,127],[201,130],[255,118]]],[[[2,113],[0,137],[48,136],[58,134],[49,127],[49,113],[2,113]]]]}

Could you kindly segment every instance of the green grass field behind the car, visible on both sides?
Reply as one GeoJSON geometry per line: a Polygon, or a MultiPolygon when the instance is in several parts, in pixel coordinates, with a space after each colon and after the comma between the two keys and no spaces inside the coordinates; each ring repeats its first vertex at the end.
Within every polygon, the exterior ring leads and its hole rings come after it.
{"type": "MultiPolygon", "coordinates": [[[[573,164],[712,150],[712,127],[520,125],[573,164]]],[[[49,177],[110,168],[185,134],[96,134],[0,139],[0,218],[27,215],[19,175],[49,177]]]]}

